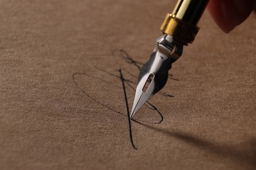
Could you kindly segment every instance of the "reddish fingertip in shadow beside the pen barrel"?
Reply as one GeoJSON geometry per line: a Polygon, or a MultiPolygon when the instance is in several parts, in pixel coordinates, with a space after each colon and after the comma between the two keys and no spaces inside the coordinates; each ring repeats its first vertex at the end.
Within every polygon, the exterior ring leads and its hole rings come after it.
{"type": "Polygon", "coordinates": [[[228,33],[251,14],[255,0],[210,0],[207,6],[215,23],[228,33]]]}

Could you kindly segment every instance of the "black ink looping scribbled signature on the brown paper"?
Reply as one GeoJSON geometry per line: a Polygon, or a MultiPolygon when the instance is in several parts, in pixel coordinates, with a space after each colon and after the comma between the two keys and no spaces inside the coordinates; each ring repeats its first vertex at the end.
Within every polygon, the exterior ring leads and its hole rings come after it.
{"type": "MultiPolygon", "coordinates": [[[[140,71],[143,63],[140,63],[139,61],[136,61],[135,59],[133,59],[125,50],[115,50],[112,54],[114,55],[114,54],[116,54],[116,52],[117,52],[117,56],[119,58],[123,59],[126,63],[132,65],[133,67],[136,67],[140,71]]],[[[86,92],[86,90],[83,90],[83,88],[81,88],[79,86],[79,83],[77,82],[75,77],[78,76],[78,75],[83,75],[83,76],[93,78],[95,80],[100,80],[101,82],[104,82],[104,83],[108,84],[108,86],[114,86],[116,88],[119,88],[119,86],[117,86],[116,84],[113,84],[111,82],[108,82],[108,81],[104,80],[103,78],[98,78],[98,77],[93,76],[93,75],[88,75],[88,74],[85,74],[85,73],[74,73],[72,75],[72,79],[73,79],[73,82],[74,82],[75,86],[77,86],[77,88],[79,88],[79,90],[81,92],[83,92],[87,97],[89,97],[90,99],[92,99],[93,101],[98,103],[99,105],[102,105],[106,109],[112,110],[113,112],[115,112],[115,113],[117,113],[121,116],[126,116],[128,118],[129,137],[130,137],[131,145],[133,146],[134,149],[137,150],[137,147],[133,143],[131,120],[129,118],[129,105],[128,105],[128,101],[127,101],[127,93],[126,93],[126,88],[125,88],[125,85],[127,85],[129,88],[131,88],[135,92],[135,88],[133,86],[136,86],[137,83],[134,82],[133,80],[129,80],[129,79],[125,78],[123,76],[123,73],[126,73],[127,75],[130,75],[131,77],[136,78],[136,79],[137,79],[137,76],[133,75],[132,73],[130,73],[129,71],[127,71],[125,69],[117,69],[116,71],[118,71],[119,74],[110,73],[110,72],[105,71],[104,69],[100,69],[98,67],[95,67],[95,69],[98,70],[98,71],[102,71],[103,73],[105,73],[108,76],[114,76],[114,77],[118,78],[119,80],[121,80],[127,114],[123,114],[123,112],[120,112],[116,109],[113,109],[111,106],[108,106],[104,103],[100,103],[100,101],[98,101],[98,99],[89,95],[89,93],[86,92]]],[[[172,80],[177,80],[177,79],[173,78],[173,75],[169,75],[169,78],[172,79],[172,80]]],[[[160,95],[163,95],[164,97],[173,97],[173,95],[170,95],[170,94],[164,93],[164,92],[160,92],[160,95]]],[[[149,124],[160,124],[163,121],[163,115],[161,114],[160,110],[158,110],[158,108],[150,102],[146,102],[145,105],[146,105],[146,107],[148,107],[148,109],[154,110],[160,116],[160,120],[157,121],[157,122],[148,122],[148,121],[145,121],[145,120],[133,119],[133,121],[135,121],[135,122],[144,122],[144,123],[149,123],[149,124]]]]}

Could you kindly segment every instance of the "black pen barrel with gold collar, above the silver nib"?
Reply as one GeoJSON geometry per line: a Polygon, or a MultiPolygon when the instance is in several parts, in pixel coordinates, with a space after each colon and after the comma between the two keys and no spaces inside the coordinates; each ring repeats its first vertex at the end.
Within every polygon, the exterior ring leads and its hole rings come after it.
{"type": "Polygon", "coordinates": [[[192,43],[199,31],[197,27],[209,0],[179,0],[172,14],[167,14],[161,31],[176,41],[192,43]]]}

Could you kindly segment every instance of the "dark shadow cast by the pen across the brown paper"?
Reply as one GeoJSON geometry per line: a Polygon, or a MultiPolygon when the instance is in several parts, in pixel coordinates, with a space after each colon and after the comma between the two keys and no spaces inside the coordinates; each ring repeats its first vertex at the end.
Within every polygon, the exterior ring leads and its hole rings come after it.
{"type": "Polygon", "coordinates": [[[241,148],[241,146],[236,147],[230,144],[215,143],[214,141],[200,139],[200,137],[196,137],[188,133],[183,133],[181,131],[173,129],[161,129],[159,127],[142,124],[141,122],[137,123],[165,135],[168,135],[169,137],[175,137],[181,141],[184,141],[185,143],[189,143],[194,147],[205,150],[209,154],[215,154],[220,158],[243,163],[244,166],[247,165],[249,167],[252,167],[253,169],[256,168],[256,138],[251,138],[249,141],[246,141],[246,148],[244,147],[238,150],[238,148],[241,148]]]}

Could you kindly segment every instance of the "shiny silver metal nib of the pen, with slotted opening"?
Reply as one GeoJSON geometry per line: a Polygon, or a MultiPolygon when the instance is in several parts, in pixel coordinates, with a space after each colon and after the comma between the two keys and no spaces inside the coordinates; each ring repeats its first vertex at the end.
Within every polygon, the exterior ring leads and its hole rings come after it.
{"type": "Polygon", "coordinates": [[[150,59],[143,65],[131,110],[130,118],[154,95],[165,86],[171,63],[182,54],[182,44],[178,44],[169,35],[162,35],[156,44],[150,59]]]}

